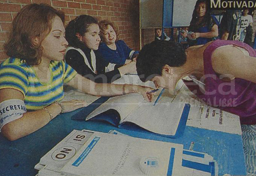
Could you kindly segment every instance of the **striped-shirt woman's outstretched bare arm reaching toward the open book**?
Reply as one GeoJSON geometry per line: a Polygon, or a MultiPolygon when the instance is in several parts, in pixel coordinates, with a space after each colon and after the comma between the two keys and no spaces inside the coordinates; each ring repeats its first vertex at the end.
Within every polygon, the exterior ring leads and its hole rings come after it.
{"type": "Polygon", "coordinates": [[[147,94],[148,91],[152,90],[151,88],[144,88],[138,85],[130,85],[126,84],[118,85],[118,84],[108,84],[108,83],[95,83],[89,79],[82,77],[77,74],[67,85],[82,91],[83,93],[96,95],[96,96],[116,96],[123,95],[123,91],[125,93],[140,93],[143,97],[150,101],[151,95],[147,94]]]}

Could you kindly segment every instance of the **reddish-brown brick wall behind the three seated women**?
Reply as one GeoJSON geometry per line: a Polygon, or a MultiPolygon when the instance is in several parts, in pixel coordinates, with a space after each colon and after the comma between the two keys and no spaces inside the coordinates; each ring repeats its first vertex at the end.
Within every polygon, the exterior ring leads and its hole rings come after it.
{"type": "Polygon", "coordinates": [[[66,24],[81,14],[116,25],[119,38],[132,49],[139,49],[139,2],[137,0],[0,0],[0,62],[6,59],[3,45],[17,12],[26,4],[45,3],[63,10],[66,24]]]}

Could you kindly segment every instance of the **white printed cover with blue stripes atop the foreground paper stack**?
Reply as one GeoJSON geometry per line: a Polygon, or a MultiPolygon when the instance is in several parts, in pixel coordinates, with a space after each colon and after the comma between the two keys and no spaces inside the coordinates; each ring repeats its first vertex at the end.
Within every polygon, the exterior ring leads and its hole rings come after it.
{"type": "Polygon", "coordinates": [[[181,144],[113,134],[93,134],[90,139],[61,172],[78,176],[141,176],[145,173],[140,169],[140,161],[145,157],[156,157],[160,166],[157,175],[167,175],[169,161],[173,161],[172,175],[179,175],[183,150],[181,144]]]}

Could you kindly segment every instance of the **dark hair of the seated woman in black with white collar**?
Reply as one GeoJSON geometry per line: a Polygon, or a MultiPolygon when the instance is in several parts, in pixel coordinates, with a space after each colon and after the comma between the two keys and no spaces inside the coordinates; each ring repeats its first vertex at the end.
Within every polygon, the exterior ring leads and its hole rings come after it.
{"type": "Polygon", "coordinates": [[[71,20],[65,29],[65,37],[69,46],[79,49],[85,47],[83,42],[77,38],[76,34],[79,33],[83,36],[91,24],[98,24],[98,20],[89,15],[80,15],[71,20]]]}

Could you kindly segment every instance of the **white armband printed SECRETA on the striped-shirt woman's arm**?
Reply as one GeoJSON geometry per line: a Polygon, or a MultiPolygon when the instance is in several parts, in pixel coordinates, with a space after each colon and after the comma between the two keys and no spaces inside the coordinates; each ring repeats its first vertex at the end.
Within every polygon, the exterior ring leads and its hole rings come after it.
{"type": "Polygon", "coordinates": [[[25,112],[25,103],[20,99],[8,99],[0,103],[0,132],[5,124],[19,119],[25,112]]]}

